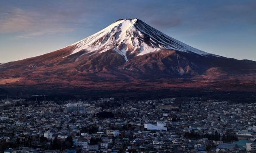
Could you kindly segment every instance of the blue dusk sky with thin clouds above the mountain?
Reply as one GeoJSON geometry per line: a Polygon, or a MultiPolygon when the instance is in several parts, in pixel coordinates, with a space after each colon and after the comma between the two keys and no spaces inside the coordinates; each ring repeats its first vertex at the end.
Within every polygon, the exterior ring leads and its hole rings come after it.
{"type": "Polygon", "coordinates": [[[0,63],[55,51],[125,18],[208,53],[256,61],[256,0],[0,0],[0,63]]]}

